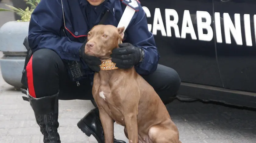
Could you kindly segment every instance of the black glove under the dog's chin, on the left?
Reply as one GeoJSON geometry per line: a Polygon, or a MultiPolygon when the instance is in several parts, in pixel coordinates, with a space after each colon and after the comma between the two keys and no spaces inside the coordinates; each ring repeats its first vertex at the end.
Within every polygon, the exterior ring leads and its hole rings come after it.
{"type": "Polygon", "coordinates": [[[86,55],[84,52],[85,44],[82,45],[80,48],[80,57],[86,62],[89,68],[93,70],[94,72],[99,72],[100,71],[100,66],[101,65],[101,60],[98,57],[95,56],[89,56],[86,55]]]}

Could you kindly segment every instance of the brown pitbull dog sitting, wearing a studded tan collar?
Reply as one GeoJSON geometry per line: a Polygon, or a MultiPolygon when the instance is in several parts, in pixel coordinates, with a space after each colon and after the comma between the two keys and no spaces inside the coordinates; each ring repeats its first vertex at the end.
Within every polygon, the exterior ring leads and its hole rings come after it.
{"type": "Polygon", "coordinates": [[[96,25],[88,33],[85,53],[99,57],[92,95],[99,108],[105,143],[113,143],[114,122],[123,125],[130,143],[181,143],[179,131],[154,88],[135,68],[119,69],[110,54],[124,36],[124,27],[96,25]]]}

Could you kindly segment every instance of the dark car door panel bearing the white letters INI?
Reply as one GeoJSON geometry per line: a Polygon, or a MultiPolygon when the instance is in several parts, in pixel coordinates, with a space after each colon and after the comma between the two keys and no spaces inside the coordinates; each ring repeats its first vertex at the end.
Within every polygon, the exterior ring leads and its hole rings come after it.
{"type": "Polygon", "coordinates": [[[224,87],[256,92],[256,1],[214,0],[214,12],[224,87]]]}

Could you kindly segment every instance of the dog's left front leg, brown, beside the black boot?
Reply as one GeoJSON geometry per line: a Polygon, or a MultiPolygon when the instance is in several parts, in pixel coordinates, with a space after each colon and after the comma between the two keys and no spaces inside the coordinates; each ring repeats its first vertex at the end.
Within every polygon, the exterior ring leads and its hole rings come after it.
{"type": "Polygon", "coordinates": [[[114,142],[114,120],[103,109],[99,108],[101,124],[104,131],[105,143],[114,142]]]}

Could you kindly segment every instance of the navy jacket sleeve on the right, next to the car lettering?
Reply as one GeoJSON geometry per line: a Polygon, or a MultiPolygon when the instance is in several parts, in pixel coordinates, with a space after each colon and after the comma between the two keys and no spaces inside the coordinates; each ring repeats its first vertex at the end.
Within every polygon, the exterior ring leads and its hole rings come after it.
{"type": "Polygon", "coordinates": [[[126,28],[126,33],[127,42],[144,49],[145,52],[144,60],[135,66],[137,73],[147,75],[154,72],[160,55],[156,48],[154,36],[148,31],[146,14],[141,5],[139,5],[139,11],[135,12],[133,19],[126,28]]]}

